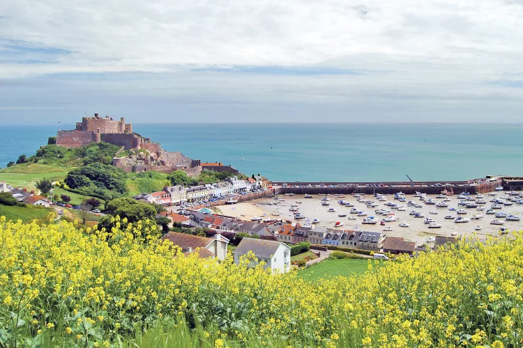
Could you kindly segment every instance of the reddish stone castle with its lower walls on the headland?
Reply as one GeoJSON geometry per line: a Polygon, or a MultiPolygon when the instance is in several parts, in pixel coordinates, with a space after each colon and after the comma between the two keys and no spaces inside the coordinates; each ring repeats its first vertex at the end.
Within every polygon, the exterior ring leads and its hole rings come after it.
{"type": "MultiPolygon", "coordinates": [[[[84,117],[82,122],[77,122],[76,129],[61,130],[56,134],[56,145],[67,148],[80,148],[100,141],[121,146],[121,150],[116,152],[112,164],[128,173],[144,171],[172,173],[177,170],[185,171],[190,176],[202,173],[199,159],[190,159],[183,156],[181,152],[163,150],[160,143],[153,143],[151,139],[132,132],[132,125],[126,124],[123,118],[120,120],[113,120],[109,116],[101,118],[98,113],[95,113],[94,117],[84,117]],[[122,155],[123,150],[146,151],[122,155]]],[[[221,163],[206,164],[205,168],[211,171],[238,173],[231,166],[223,166],[221,163]]]]}

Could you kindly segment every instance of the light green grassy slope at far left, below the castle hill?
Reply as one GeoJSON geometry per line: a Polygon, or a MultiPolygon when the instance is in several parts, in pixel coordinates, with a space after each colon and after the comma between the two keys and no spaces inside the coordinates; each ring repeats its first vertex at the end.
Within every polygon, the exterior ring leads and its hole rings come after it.
{"type": "Polygon", "coordinates": [[[44,177],[52,181],[63,180],[70,168],[50,166],[45,164],[17,164],[0,171],[0,181],[5,181],[14,187],[36,189],[36,182],[44,177]]]}

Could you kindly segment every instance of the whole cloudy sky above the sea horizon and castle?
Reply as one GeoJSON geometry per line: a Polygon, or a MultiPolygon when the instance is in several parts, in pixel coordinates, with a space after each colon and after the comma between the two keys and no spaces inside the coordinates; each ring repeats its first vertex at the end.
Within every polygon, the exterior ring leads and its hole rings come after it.
{"type": "Polygon", "coordinates": [[[2,0],[0,124],[520,122],[523,0],[2,0]]]}

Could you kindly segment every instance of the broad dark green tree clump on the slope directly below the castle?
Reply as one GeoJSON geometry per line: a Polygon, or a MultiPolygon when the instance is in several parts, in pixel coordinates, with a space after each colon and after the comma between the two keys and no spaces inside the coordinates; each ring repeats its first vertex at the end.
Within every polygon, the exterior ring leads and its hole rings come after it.
{"type": "Polygon", "coordinates": [[[106,191],[126,192],[126,173],[107,164],[92,163],[70,171],[66,184],[71,189],[85,189],[93,193],[105,194],[106,191]]]}

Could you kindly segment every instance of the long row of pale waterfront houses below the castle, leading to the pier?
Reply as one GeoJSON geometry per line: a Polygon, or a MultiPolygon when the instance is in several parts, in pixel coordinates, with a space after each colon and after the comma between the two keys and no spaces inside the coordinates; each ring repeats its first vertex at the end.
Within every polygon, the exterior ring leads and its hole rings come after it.
{"type": "Polygon", "coordinates": [[[232,193],[256,191],[269,186],[266,177],[258,175],[247,180],[229,177],[224,182],[202,184],[191,187],[183,185],[166,186],[162,191],[146,194],[143,198],[149,203],[176,205],[183,202],[197,202],[213,197],[228,196],[232,193]]]}

